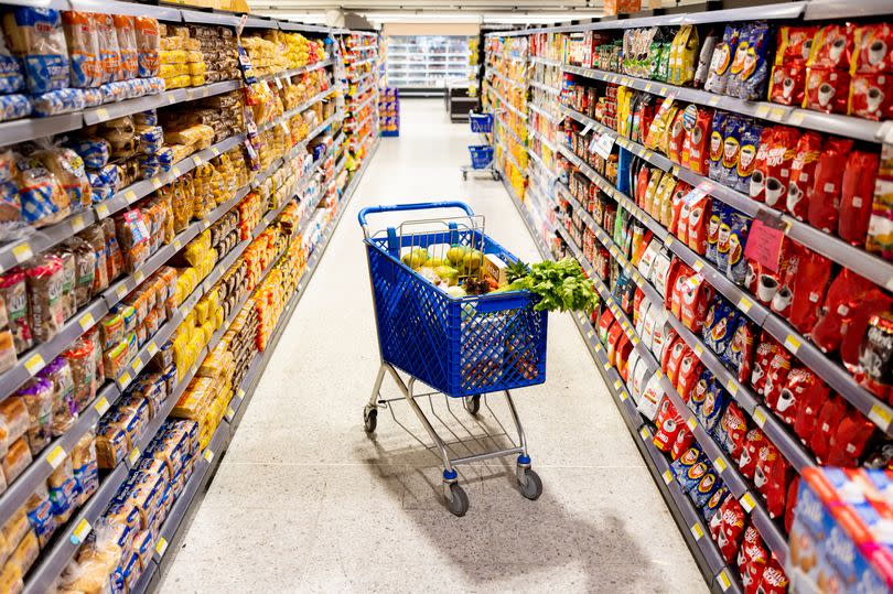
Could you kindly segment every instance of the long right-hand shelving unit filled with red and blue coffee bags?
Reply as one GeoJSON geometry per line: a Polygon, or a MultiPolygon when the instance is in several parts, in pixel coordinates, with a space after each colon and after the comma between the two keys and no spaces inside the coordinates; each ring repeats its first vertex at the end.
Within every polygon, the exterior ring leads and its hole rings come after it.
{"type": "Polygon", "coordinates": [[[893,29],[830,4],[486,36],[506,190],[595,281],[574,320],[722,592],[788,588],[810,468],[893,467],[893,29]]]}

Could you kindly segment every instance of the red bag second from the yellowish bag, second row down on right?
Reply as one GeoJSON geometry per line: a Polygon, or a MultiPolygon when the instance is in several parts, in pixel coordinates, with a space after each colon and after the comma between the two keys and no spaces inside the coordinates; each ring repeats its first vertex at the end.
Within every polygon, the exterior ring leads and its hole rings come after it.
{"type": "Polygon", "coordinates": [[[835,233],[840,208],[841,175],[852,140],[829,138],[825,141],[813,185],[807,192],[809,224],[825,233],[835,233]]]}

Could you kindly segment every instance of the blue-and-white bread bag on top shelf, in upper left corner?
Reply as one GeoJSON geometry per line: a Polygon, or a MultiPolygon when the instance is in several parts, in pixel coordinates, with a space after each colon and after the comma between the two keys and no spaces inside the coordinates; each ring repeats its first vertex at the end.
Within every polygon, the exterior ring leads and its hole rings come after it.
{"type": "Polygon", "coordinates": [[[12,51],[22,57],[30,93],[39,95],[68,86],[68,48],[58,10],[14,8],[3,15],[3,29],[12,51]]]}

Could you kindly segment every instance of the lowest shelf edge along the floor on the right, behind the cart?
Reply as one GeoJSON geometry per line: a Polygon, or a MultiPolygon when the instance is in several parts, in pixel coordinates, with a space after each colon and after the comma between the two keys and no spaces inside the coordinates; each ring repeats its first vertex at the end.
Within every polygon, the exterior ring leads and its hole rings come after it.
{"type": "MultiPolygon", "coordinates": [[[[551,256],[548,249],[541,244],[536,233],[536,226],[525,212],[524,206],[521,206],[520,202],[517,199],[512,187],[505,182],[505,176],[503,176],[503,184],[509,196],[512,196],[512,202],[515,204],[521,219],[527,225],[528,231],[534,237],[540,255],[544,258],[550,258],[551,256]]],[[[607,363],[607,356],[595,336],[594,328],[582,315],[572,314],[571,317],[577,323],[580,334],[583,336],[590,353],[595,359],[599,372],[605,380],[605,386],[607,386],[609,392],[621,412],[621,417],[630,429],[630,433],[636,446],[639,449],[643,460],[652,472],[655,484],[667,503],[667,507],[673,514],[679,527],[679,531],[686,540],[689,550],[692,552],[704,580],[716,592],[741,592],[740,585],[736,581],[731,579],[733,574],[725,566],[717,546],[710,538],[709,531],[706,529],[691,500],[682,494],[678,482],[674,479],[664,455],[654,447],[650,430],[647,426],[643,426],[644,423],[642,417],[636,411],[635,402],[626,390],[616,369],[607,363]]]]}

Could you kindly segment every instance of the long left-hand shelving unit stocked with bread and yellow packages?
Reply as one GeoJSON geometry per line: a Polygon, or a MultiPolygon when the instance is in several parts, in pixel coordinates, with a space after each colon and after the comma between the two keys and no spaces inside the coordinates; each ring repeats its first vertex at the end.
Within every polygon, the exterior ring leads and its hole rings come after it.
{"type": "Polygon", "coordinates": [[[153,587],[366,165],[352,32],[95,10],[4,11],[3,592],[153,587]]]}

